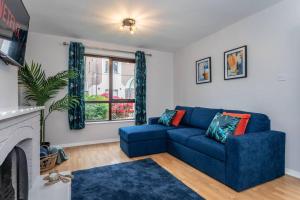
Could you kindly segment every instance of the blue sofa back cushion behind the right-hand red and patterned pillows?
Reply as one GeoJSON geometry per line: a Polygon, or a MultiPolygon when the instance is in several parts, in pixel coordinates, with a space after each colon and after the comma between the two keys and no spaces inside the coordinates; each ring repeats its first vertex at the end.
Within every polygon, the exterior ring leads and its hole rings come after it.
{"type": "Polygon", "coordinates": [[[269,131],[271,129],[270,119],[265,114],[251,113],[251,112],[245,112],[240,110],[224,110],[224,112],[251,114],[251,118],[248,122],[245,133],[263,132],[263,131],[269,131]]]}

